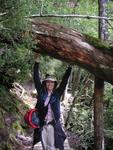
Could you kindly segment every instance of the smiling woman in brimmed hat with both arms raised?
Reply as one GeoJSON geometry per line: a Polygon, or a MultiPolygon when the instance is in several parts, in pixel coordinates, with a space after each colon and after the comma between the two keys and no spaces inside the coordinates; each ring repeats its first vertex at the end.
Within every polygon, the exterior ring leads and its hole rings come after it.
{"type": "Polygon", "coordinates": [[[41,83],[39,77],[39,55],[34,64],[34,83],[38,93],[36,108],[39,111],[40,129],[34,130],[33,145],[41,141],[43,150],[64,150],[66,138],[60,124],[60,98],[66,88],[71,67],[66,70],[57,88],[57,81],[53,76],[46,76],[41,83]]]}

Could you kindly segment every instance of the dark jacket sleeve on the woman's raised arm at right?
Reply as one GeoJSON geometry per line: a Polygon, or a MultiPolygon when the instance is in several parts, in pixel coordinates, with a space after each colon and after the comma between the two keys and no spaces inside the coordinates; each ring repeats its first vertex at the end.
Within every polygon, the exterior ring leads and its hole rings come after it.
{"type": "Polygon", "coordinates": [[[72,69],[71,67],[68,67],[68,69],[66,70],[66,72],[62,78],[62,81],[61,81],[61,83],[57,89],[60,96],[64,93],[64,90],[66,88],[69,76],[71,74],[71,69],[72,69]]]}

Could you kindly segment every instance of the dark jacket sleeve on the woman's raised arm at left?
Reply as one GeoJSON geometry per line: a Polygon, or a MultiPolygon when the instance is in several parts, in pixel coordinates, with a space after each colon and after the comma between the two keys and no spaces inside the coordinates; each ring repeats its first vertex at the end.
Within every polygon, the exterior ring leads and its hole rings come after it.
{"type": "Polygon", "coordinates": [[[37,62],[34,64],[34,83],[38,94],[40,94],[42,91],[42,84],[39,77],[39,63],[37,62]]]}

